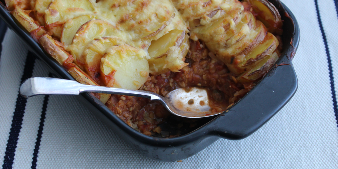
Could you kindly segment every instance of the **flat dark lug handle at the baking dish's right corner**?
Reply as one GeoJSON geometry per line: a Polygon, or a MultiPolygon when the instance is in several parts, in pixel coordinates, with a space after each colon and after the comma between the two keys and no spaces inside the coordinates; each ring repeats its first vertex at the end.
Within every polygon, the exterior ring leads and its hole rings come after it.
{"type": "Polygon", "coordinates": [[[272,69],[247,96],[208,124],[208,133],[230,140],[248,137],[291,99],[298,87],[292,65],[272,69]]]}

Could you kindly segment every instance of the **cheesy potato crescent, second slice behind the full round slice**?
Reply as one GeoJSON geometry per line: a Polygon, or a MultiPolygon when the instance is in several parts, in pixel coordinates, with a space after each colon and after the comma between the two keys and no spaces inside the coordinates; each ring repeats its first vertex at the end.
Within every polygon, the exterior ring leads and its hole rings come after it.
{"type": "Polygon", "coordinates": [[[83,24],[76,32],[71,45],[67,47],[78,65],[84,64],[84,57],[82,56],[83,50],[86,46],[96,38],[107,37],[114,35],[124,40],[128,38],[128,34],[121,32],[115,26],[107,21],[92,19],[83,24]]]}

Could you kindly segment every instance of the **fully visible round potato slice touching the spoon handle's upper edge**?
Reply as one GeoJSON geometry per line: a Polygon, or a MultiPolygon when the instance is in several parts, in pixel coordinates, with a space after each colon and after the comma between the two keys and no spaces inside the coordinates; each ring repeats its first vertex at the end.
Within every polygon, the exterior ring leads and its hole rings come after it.
{"type": "Polygon", "coordinates": [[[113,46],[101,58],[100,69],[106,86],[139,89],[149,76],[147,53],[125,44],[113,46]]]}

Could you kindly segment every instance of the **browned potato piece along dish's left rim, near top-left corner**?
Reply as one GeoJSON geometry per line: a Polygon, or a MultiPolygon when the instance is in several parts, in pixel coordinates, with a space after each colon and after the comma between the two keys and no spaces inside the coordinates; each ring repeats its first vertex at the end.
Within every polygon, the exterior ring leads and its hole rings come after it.
{"type": "MultiPolygon", "coordinates": [[[[28,31],[31,32],[32,30],[38,29],[41,26],[39,26],[38,24],[36,24],[33,20],[33,18],[29,17],[28,15],[29,11],[20,9],[18,7],[16,7],[13,11],[12,14],[14,16],[15,19],[17,19],[19,21],[19,23],[28,31]]],[[[37,35],[42,35],[44,33],[44,29],[40,29],[37,32],[37,35]]]]}

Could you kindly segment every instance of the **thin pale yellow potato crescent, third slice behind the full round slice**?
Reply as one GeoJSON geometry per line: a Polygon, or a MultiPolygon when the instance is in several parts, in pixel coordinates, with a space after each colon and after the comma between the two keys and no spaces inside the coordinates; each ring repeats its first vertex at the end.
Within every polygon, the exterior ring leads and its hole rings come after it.
{"type": "Polygon", "coordinates": [[[95,15],[82,15],[68,20],[63,25],[60,41],[66,46],[70,45],[79,27],[95,17],[95,15]]]}

